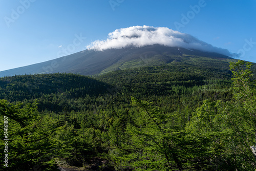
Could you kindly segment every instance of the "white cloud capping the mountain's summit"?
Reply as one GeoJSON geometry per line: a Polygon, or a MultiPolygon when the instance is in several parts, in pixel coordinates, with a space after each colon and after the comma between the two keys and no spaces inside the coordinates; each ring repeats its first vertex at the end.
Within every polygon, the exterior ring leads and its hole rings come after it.
{"type": "Polygon", "coordinates": [[[89,50],[103,51],[106,49],[121,49],[129,46],[143,47],[148,45],[163,45],[182,47],[207,52],[216,52],[233,56],[228,50],[214,47],[186,33],[181,33],[166,27],[133,26],[117,29],[109,33],[106,40],[96,40],[87,46],[89,50]]]}

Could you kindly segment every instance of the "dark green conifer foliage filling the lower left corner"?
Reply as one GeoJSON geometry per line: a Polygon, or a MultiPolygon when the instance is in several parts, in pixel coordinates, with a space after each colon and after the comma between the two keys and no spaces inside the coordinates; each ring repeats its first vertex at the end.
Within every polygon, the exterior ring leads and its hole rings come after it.
{"type": "Polygon", "coordinates": [[[8,167],[1,164],[2,169],[9,170],[39,170],[54,168],[51,158],[55,141],[51,138],[58,127],[58,121],[49,115],[40,116],[37,102],[12,104],[0,100],[0,124],[8,122],[8,127],[1,131],[1,149],[4,142],[8,143],[8,152],[0,152],[1,163],[3,156],[8,154],[8,167]],[[6,129],[7,128],[7,129],[6,129]],[[7,134],[4,134],[7,132],[7,134]],[[5,139],[8,139],[5,140],[5,139]],[[4,168],[3,168],[4,167],[4,168]]]}

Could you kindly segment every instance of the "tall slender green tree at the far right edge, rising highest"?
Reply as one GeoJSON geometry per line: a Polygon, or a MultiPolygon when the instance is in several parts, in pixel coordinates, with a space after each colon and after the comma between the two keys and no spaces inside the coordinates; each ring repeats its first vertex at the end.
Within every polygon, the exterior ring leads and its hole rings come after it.
{"type": "MultiPolygon", "coordinates": [[[[231,114],[230,123],[233,130],[238,134],[244,144],[242,150],[247,162],[256,169],[255,160],[250,153],[255,153],[256,143],[256,83],[251,71],[251,62],[239,60],[230,63],[230,70],[233,73],[233,96],[234,109],[231,114]]],[[[255,154],[254,154],[255,155],[255,154]]],[[[255,157],[255,156],[254,156],[255,157]]]]}

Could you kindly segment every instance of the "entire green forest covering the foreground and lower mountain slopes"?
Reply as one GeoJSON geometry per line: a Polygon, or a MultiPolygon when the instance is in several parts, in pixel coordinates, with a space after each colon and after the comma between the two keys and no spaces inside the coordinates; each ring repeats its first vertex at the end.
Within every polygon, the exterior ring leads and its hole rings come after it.
{"type": "Polygon", "coordinates": [[[255,170],[255,69],[229,67],[2,77],[0,169],[255,170]]]}

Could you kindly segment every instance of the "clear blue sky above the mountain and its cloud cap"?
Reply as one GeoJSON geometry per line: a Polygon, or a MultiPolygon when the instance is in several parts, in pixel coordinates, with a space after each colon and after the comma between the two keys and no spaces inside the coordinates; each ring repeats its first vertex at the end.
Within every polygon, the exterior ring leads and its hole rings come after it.
{"type": "Polygon", "coordinates": [[[82,51],[115,29],[143,25],[179,30],[256,62],[255,0],[2,0],[0,71],[82,51]]]}

